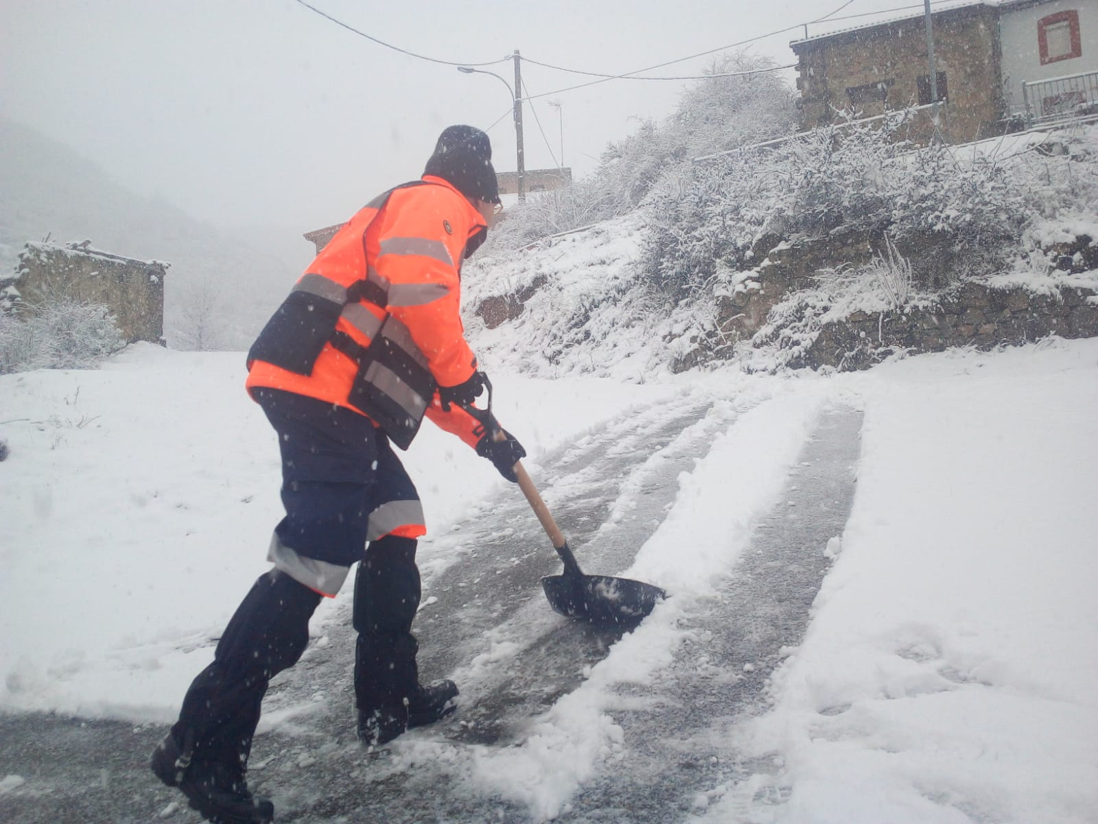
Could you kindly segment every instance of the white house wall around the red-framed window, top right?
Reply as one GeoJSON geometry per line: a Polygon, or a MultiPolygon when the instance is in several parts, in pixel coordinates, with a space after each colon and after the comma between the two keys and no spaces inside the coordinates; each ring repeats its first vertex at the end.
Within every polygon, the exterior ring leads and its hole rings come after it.
{"type": "Polygon", "coordinates": [[[1050,0],[1020,3],[1019,8],[1004,4],[999,16],[999,40],[1002,44],[1002,79],[1007,111],[1023,112],[1022,81],[1047,80],[1053,77],[1098,71],[1098,2],[1096,0],[1050,0]],[[1041,65],[1037,24],[1039,20],[1061,11],[1074,10],[1079,15],[1079,38],[1083,54],[1065,60],[1041,65]]]}

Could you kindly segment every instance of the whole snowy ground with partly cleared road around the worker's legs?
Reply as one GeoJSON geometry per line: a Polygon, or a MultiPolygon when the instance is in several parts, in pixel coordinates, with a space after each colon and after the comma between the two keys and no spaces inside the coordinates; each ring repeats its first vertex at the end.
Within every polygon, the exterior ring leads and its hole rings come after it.
{"type": "MultiPolygon", "coordinates": [[[[239,378],[0,378],[0,820],[197,821],[145,759],[279,515],[239,378]]],[[[279,821],[1090,824],[1098,342],[495,383],[583,568],[671,598],[620,637],[553,613],[520,493],[425,431],[417,632],[460,711],[362,751],[346,588],[265,705],[279,821]]]]}

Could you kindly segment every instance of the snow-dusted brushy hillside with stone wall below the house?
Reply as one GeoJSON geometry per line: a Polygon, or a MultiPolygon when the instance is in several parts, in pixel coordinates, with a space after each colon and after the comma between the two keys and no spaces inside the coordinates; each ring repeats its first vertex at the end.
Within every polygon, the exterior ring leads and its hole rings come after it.
{"type": "Polygon", "coordinates": [[[463,276],[483,350],[525,374],[645,380],[727,359],[833,367],[806,357],[817,342],[873,363],[1098,334],[1093,123],[923,148],[824,130],[661,181],[629,214],[571,233],[516,243],[504,224],[463,276]],[[962,301],[965,288],[979,297],[962,301]],[[1016,316],[993,309],[1010,289],[1016,316]],[[1049,305],[1065,289],[1082,290],[1075,325],[1049,305]]]}

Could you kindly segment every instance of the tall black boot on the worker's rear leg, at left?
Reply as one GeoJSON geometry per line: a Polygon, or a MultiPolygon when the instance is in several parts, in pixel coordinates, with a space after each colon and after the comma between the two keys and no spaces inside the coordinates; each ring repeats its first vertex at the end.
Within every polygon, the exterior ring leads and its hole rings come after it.
{"type": "Polygon", "coordinates": [[[292,667],[309,643],[321,595],[290,576],[260,576],[214,652],[191,682],[179,721],[154,750],[153,772],[178,787],[211,822],[270,821],[273,804],[253,795],[245,773],[260,704],[270,679],[292,667]]]}

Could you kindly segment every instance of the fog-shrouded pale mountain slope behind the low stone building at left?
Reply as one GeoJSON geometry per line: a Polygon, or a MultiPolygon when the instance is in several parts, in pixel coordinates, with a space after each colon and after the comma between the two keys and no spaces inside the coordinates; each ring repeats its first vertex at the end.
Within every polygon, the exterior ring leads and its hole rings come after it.
{"type": "Polygon", "coordinates": [[[11,272],[27,241],[46,236],[167,261],[165,335],[175,348],[197,346],[195,324],[203,326],[202,348],[247,348],[311,259],[300,231],[285,230],[281,238],[282,230],[228,230],[194,220],[3,116],[0,180],[0,272],[11,272]]]}

